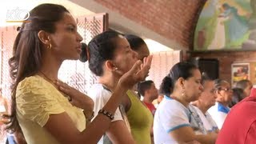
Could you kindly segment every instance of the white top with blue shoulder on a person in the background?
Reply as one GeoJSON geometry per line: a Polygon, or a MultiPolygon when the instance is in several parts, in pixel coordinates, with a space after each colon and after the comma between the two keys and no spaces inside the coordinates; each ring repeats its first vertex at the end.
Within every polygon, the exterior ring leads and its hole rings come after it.
{"type": "Polygon", "coordinates": [[[218,129],[221,130],[223,122],[226,119],[226,115],[229,113],[230,108],[223,106],[221,103],[216,102],[214,106],[211,106],[208,110],[211,117],[217,123],[218,129]]]}

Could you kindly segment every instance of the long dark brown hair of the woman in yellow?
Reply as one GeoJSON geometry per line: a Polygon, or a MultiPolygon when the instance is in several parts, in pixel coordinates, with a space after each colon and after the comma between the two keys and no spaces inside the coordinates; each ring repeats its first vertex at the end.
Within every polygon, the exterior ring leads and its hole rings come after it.
{"type": "MultiPolygon", "coordinates": [[[[9,118],[6,130],[10,132],[21,132],[16,117],[16,90],[18,83],[24,78],[34,75],[42,66],[42,47],[43,44],[38,38],[38,32],[44,30],[54,34],[56,23],[61,21],[64,14],[69,13],[64,6],[55,4],[41,4],[30,10],[28,22],[23,22],[17,30],[13,46],[13,56],[9,59],[11,84],[11,112],[4,115],[9,118]]],[[[27,17],[27,15],[26,15],[27,17]]]]}

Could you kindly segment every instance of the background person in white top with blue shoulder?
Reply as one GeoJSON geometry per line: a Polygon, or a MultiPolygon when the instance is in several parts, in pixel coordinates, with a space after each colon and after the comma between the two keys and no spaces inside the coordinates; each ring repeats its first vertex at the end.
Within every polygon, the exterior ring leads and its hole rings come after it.
{"type": "Polygon", "coordinates": [[[208,112],[217,123],[218,129],[221,129],[226,115],[230,111],[228,105],[232,100],[233,90],[230,88],[230,83],[222,79],[214,80],[214,88],[217,95],[216,104],[210,107],[208,112]]]}

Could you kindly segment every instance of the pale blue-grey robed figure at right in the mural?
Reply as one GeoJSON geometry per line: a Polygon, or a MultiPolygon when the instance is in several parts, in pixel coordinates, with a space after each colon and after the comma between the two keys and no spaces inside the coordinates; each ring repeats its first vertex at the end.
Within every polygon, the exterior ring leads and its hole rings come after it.
{"type": "Polygon", "coordinates": [[[224,3],[222,8],[224,12],[220,14],[219,17],[228,18],[229,22],[227,22],[226,28],[228,28],[229,42],[238,41],[246,34],[248,25],[246,21],[238,15],[238,9],[234,6],[224,3]]]}

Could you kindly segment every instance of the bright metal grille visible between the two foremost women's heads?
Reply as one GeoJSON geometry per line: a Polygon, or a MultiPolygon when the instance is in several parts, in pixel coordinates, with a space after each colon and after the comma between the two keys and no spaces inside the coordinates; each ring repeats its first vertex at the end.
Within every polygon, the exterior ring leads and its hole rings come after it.
{"type": "MultiPolygon", "coordinates": [[[[78,33],[82,35],[83,42],[88,44],[94,36],[107,30],[108,17],[107,14],[80,17],[77,18],[77,23],[78,33]]],[[[66,60],[59,70],[58,77],[84,93],[97,82],[97,77],[90,71],[88,62],[66,60]]]]}

